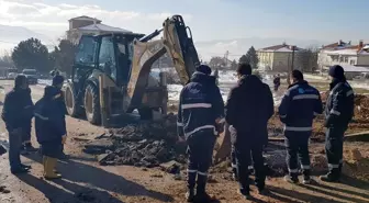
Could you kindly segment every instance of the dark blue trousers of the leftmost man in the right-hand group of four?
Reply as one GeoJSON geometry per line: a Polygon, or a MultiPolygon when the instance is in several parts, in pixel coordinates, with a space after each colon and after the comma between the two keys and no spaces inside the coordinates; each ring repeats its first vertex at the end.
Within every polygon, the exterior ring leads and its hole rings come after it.
{"type": "Polygon", "coordinates": [[[198,132],[187,138],[189,155],[187,187],[193,190],[197,185],[197,193],[205,192],[215,140],[215,135],[209,132],[198,132]]]}

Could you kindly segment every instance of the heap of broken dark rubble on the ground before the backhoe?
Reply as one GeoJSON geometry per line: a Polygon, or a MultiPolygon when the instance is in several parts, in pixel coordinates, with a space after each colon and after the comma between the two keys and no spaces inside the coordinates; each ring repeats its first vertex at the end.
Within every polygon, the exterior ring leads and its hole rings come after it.
{"type": "Polygon", "coordinates": [[[85,151],[98,155],[100,165],[150,168],[170,160],[185,162],[186,146],[177,143],[176,121],[170,114],[159,122],[112,128],[109,137],[87,144],[85,151]]]}

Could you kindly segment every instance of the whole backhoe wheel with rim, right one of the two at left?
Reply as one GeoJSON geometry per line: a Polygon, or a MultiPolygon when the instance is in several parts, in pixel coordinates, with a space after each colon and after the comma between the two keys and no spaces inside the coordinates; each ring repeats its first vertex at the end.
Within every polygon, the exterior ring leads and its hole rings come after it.
{"type": "Polygon", "coordinates": [[[87,121],[93,125],[101,123],[100,95],[97,86],[89,83],[85,91],[85,112],[87,121]]]}

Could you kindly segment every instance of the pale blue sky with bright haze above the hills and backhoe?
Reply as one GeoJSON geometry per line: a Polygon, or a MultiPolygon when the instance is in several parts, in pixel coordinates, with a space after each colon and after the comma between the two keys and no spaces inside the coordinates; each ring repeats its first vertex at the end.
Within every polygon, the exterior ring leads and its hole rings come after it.
{"type": "Polygon", "coordinates": [[[367,0],[0,0],[0,25],[24,26],[56,38],[68,29],[68,19],[89,15],[150,33],[167,16],[181,14],[195,42],[235,43],[247,37],[356,42],[369,40],[367,8],[367,0]]]}

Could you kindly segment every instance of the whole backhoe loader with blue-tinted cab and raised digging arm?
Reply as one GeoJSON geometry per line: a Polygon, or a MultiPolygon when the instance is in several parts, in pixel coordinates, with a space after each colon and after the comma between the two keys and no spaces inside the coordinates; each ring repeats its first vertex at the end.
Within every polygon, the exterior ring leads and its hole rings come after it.
{"type": "Polygon", "coordinates": [[[199,65],[189,29],[180,15],[167,19],[149,35],[124,33],[83,35],[71,72],[64,87],[68,114],[86,114],[92,124],[109,125],[112,117],[132,113],[144,119],[154,110],[166,114],[168,92],[165,75],[150,76],[152,65],[168,53],[182,83],[199,65]],[[153,40],[163,33],[163,38],[153,40]]]}

